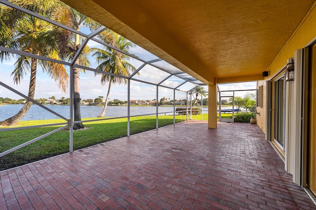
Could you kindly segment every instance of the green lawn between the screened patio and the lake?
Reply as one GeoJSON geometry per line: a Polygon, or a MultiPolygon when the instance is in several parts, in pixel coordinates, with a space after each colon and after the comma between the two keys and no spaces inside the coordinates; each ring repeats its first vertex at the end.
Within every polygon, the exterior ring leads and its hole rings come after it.
{"type": "MultiPolygon", "coordinates": [[[[100,119],[100,118],[89,118],[100,119]]],[[[159,116],[158,126],[173,124],[173,116],[159,116]]],[[[176,123],[184,121],[186,116],[176,115],[176,123]]],[[[87,120],[87,119],[82,119],[87,120]]],[[[21,121],[16,127],[62,123],[64,120],[21,121]]],[[[74,150],[127,136],[127,118],[83,123],[85,130],[74,132],[74,150]]],[[[0,152],[40,137],[62,126],[50,126],[16,131],[0,132],[0,152]]],[[[130,118],[130,134],[136,134],[156,128],[156,116],[130,118]]],[[[0,170],[31,163],[44,158],[69,152],[69,130],[64,129],[0,157],[0,170]]]]}

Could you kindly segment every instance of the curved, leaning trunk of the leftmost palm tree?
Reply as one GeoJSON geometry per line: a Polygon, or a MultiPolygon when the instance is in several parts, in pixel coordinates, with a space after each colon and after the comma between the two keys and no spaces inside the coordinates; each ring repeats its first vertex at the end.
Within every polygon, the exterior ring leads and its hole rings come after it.
{"type": "MultiPolygon", "coordinates": [[[[30,78],[30,86],[29,86],[29,94],[28,97],[31,99],[34,99],[35,94],[35,85],[36,85],[36,71],[37,71],[37,59],[32,58],[32,64],[31,64],[31,78],[30,78]]],[[[3,120],[0,122],[0,126],[13,126],[16,125],[23,117],[24,115],[29,111],[31,105],[33,102],[26,101],[25,105],[21,108],[21,110],[16,113],[14,116],[3,120]]]]}

